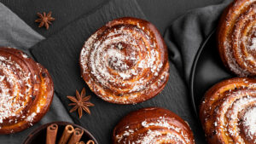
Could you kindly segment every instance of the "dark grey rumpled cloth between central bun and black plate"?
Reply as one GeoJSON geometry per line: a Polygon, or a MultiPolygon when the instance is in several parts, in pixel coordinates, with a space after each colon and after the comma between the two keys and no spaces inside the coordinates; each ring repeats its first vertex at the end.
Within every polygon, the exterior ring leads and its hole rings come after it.
{"type": "Polygon", "coordinates": [[[189,84],[189,76],[197,50],[207,36],[218,26],[218,18],[232,0],[217,5],[191,10],[172,23],[165,33],[170,50],[169,58],[189,84]]]}

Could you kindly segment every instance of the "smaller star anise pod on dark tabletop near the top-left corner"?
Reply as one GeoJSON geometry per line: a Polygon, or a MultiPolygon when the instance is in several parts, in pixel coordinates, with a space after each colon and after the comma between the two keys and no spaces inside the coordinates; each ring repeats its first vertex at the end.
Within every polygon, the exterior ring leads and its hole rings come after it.
{"type": "Polygon", "coordinates": [[[52,23],[50,21],[55,20],[55,18],[51,17],[51,11],[48,14],[43,14],[38,13],[39,19],[35,20],[35,22],[40,23],[38,27],[45,26],[46,30],[49,29],[49,24],[51,25],[52,23]]]}

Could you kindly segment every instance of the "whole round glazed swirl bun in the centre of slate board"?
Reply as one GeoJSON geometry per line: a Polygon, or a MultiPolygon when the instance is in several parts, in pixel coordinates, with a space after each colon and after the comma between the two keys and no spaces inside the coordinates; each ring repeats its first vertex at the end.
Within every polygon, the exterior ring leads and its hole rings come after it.
{"type": "Polygon", "coordinates": [[[102,26],[84,43],[82,77],[104,101],[134,104],[160,93],[169,78],[167,49],[146,20],[120,18],[102,26]]]}

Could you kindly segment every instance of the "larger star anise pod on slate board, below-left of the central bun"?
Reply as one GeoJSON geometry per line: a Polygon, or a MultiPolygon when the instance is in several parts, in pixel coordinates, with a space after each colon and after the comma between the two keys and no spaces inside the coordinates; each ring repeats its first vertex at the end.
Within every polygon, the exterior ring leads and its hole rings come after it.
{"type": "Polygon", "coordinates": [[[68,106],[74,106],[69,112],[74,112],[77,109],[79,109],[79,118],[82,118],[83,116],[83,110],[90,114],[89,107],[93,107],[94,104],[90,103],[90,95],[85,96],[85,89],[82,89],[81,94],[79,94],[79,91],[76,90],[76,97],[75,96],[69,96],[67,95],[67,98],[70,101],[73,101],[74,103],[68,104],[68,106]]]}

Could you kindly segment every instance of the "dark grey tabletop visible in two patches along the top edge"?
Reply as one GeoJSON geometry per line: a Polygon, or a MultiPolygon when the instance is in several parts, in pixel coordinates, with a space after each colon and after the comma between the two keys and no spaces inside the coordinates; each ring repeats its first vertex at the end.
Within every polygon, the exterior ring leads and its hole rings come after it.
{"type": "MultiPolygon", "coordinates": [[[[164,33],[167,26],[173,20],[186,13],[189,9],[204,7],[211,4],[221,3],[223,0],[137,0],[147,16],[161,32],[164,33]]],[[[101,3],[108,0],[0,0],[1,3],[9,7],[15,14],[18,14],[27,25],[44,37],[49,37],[53,33],[59,32],[64,26],[77,20],[81,15],[87,14],[93,9],[97,9],[101,3]],[[56,18],[53,26],[48,31],[38,28],[34,22],[37,12],[52,11],[56,18]]]]}

